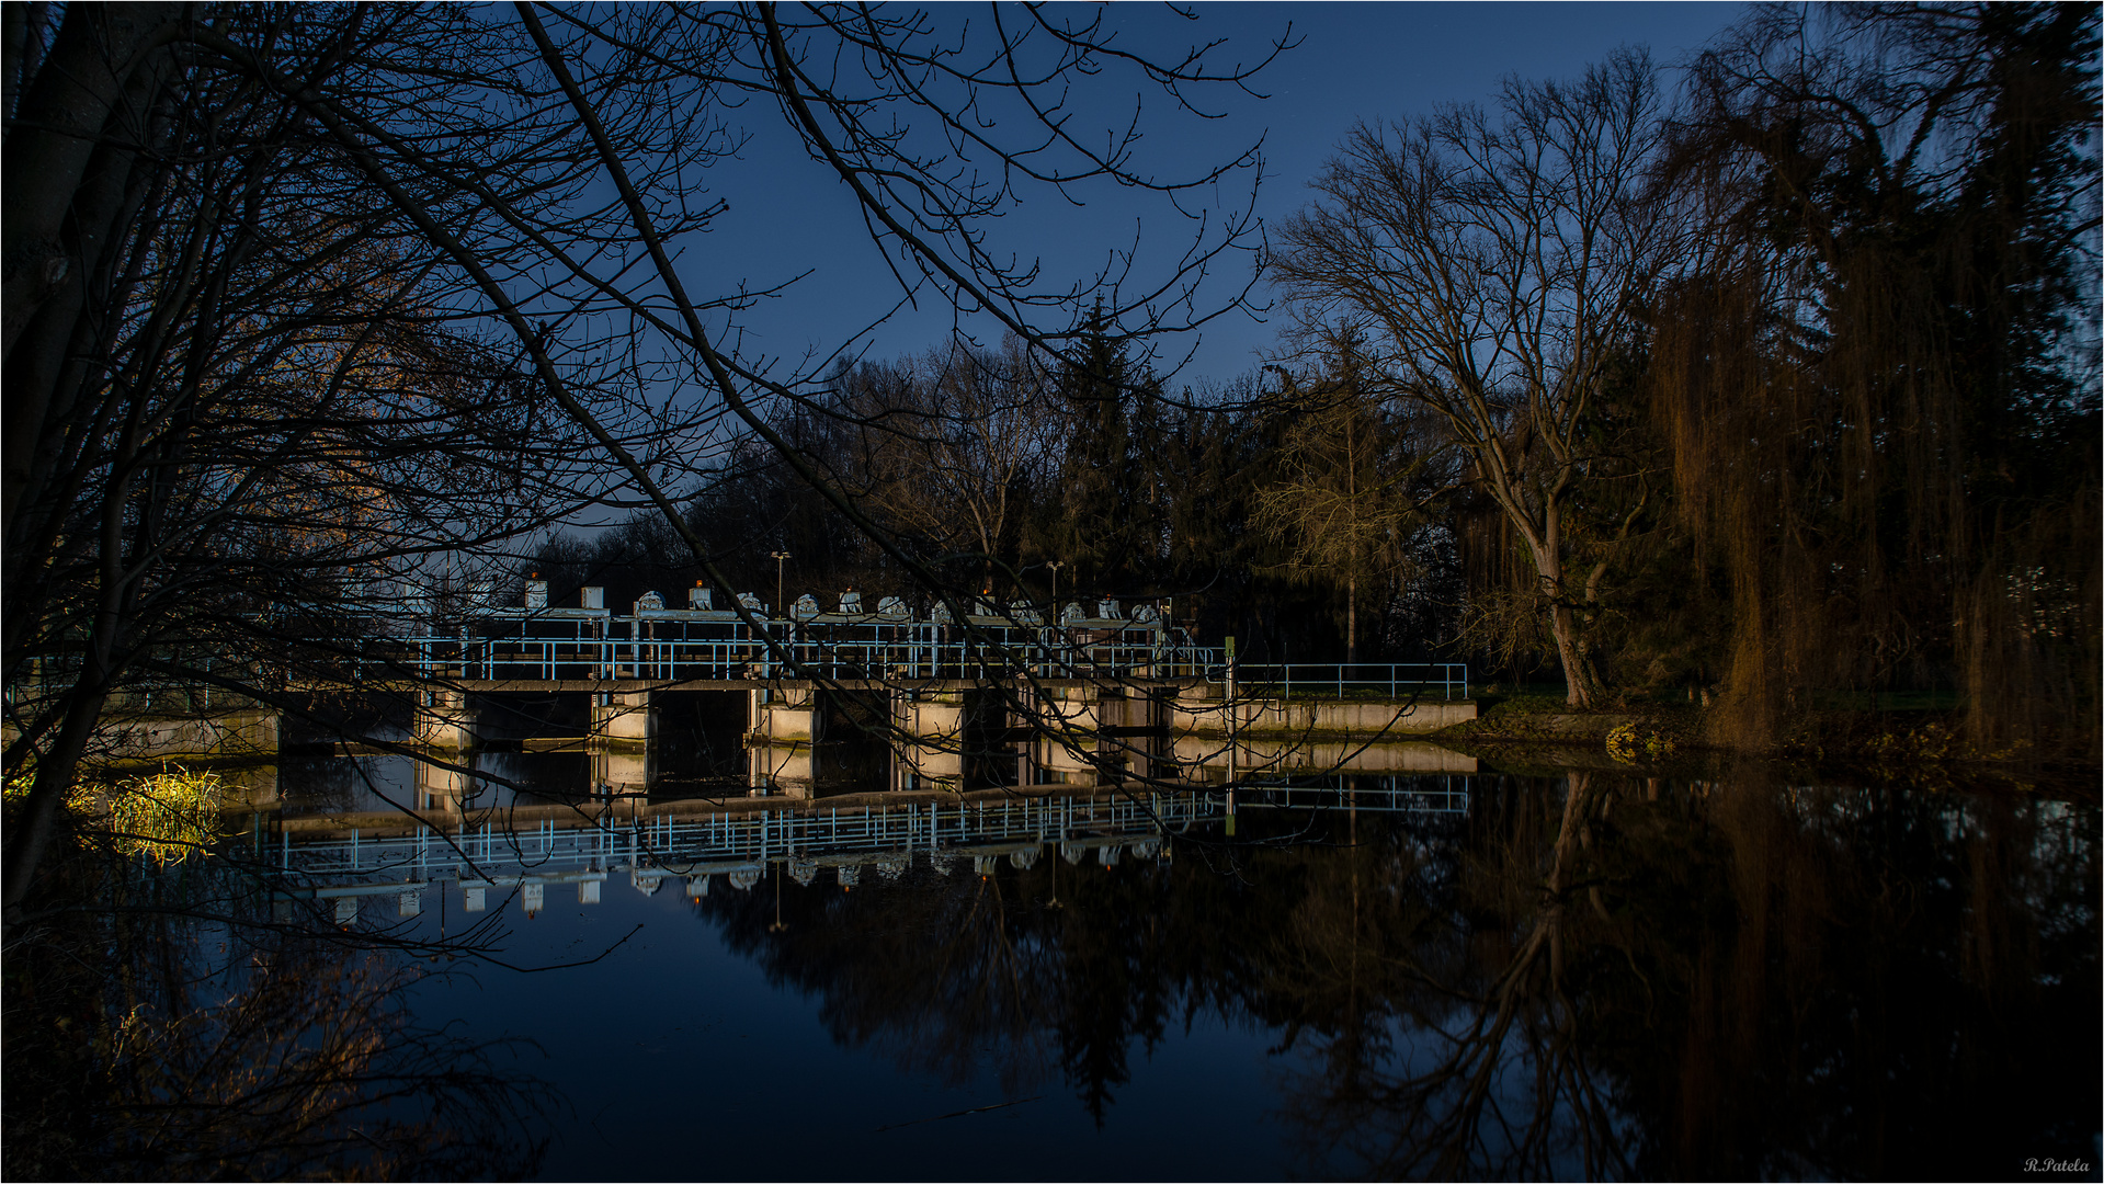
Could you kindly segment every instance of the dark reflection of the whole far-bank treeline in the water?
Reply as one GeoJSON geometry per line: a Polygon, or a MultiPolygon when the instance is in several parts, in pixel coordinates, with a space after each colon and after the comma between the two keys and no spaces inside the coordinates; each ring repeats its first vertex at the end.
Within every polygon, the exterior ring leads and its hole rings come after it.
{"type": "Polygon", "coordinates": [[[1466,822],[1058,864],[1060,909],[1052,860],[789,881],[783,934],[772,883],[701,909],[842,1043],[1010,1094],[1056,1064],[1098,1121],[1168,1024],[1277,1030],[1315,1173],[1891,1176],[2089,1146],[2093,805],[1475,784],[1466,822]]]}

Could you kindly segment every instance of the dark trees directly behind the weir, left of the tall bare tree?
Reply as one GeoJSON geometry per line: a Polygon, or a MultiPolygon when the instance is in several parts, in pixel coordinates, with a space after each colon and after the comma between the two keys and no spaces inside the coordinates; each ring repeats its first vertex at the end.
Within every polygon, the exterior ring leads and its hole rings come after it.
{"type": "MultiPolygon", "coordinates": [[[[1281,391],[1258,374],[1168,395],[1100,330],[1081,358],[1048,370],[1010,341],[863,362],[787,404],[776,431],[951,587],[1046,601],[1056,578],[1090,612],[1168,599],[1203,641],[1239,635],[1256,660],[1342,660],[1353,637],[1361,660],[1448,650],[1458,568],[1445,524],[1418,509],[1435,467],[1416,450],[1435,446],[1410,421],[1334,383],[1281,391]]],[[[787,599],[831,608],[858,589],[865,606],[928,608],[913,572],[770,450],[730,448],[686,513],[730,591],[772,604],[787,551],[787,599]]],[[[675,555],[663,519],[638,513],[549,536],[518,574],[560,601],[600,585],[627,606],[701,578],[675,555]]]]}

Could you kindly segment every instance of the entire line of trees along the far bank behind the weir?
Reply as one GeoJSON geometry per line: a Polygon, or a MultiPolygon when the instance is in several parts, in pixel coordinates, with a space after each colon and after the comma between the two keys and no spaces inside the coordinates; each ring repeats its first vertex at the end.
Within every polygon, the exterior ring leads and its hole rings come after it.
{"type": "Polygon", "coordinates": [[[1279,364],[1172,389],[1098,318],[1056,364],[846,366],[776,408],[802,465],[732,448],[688,522],[764,599],[770,551],[789,595],[1058,564],[1256,660],[1715,696],[1744,749],[1913,692],[1974,753],[2093,759],[2096,46],[2081,4],[1761,11],[1677,99],[1620,53],[1365,124],[1279,233],[1279,364]]]}

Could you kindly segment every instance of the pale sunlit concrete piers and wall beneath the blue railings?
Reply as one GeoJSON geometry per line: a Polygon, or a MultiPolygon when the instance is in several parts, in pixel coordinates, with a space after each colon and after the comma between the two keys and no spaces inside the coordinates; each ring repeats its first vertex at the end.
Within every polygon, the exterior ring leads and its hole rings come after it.
{"type": "MultiPolygon", "coordinates": [[[[492,742],[520,742],[528,751],[574,744],[593,755],[593,784],[644,791],[656,772],[659,707],[669,694],[694,690],[720,696],[711,711],[743,715],[736,723],[743,723],[747,784],[797,799],[814,797],[823,778],[871,776],[890,791],[955,793],[985,784],[1218,780],[1265,768],[1471,772],[1462,768],[1473,765],[1466,757],[1408,740],[1477,717],[1473,700],[1229,696],[1227,683],[1206,679],[509,679],[414,690],[410,740],[440,757],[492,742]],[[522,713],[505,702],[537,696],[570,702],[568,721],[555,723],[562,736],[518,736],[522,713]],[[829,719],[846,732],[829,736],[829,719]],[[579,726],[585,736],[576,734],[579,726]]],[[[551,726],[547,719],[541,717],[543,730],[551,726]]],[[[107,751],[124,759],[265,757],[278,751],[278,715],[248,709],[189,719],[120,719],[107,751]]],[[[431,774],[431,780],[448,778],[431,774]]],[[[419,789],[436,801],[457,793],[450,784],[419,789]]]]}

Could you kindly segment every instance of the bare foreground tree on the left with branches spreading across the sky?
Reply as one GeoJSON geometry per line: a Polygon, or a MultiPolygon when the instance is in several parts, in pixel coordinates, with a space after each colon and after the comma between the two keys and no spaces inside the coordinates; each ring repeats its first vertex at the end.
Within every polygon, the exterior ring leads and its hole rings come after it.
{"type": "Polygon", "coordinates": [[[1246,208],[1176,200],[1254,149],[1161,181],[1145,124],[1081,135],[1065,97],[1130,72],[1199,114],[1250,72],[1142,59],[1092,15],[112,4],[8,8],[6,32],[6,770],[34,770],[11,906],[112,694],[282,698],[370,633],[389,580],[494,564],[583,507],[659,511],[722,585],[682,498],[734,435],[959,595],[774,429],[863,334],[747,353],[743,313],[783,286],[680,261],[724,225],[709,168],[749,137],[842,183],[901,301],[1039,364],[1102,290],[1126,334],[1195,328],[1250,233],[1246,208]],[[989,240],[1027,191],[1092,185],[1159,193],[1191,250],[1052,284],[989,240]]]}

